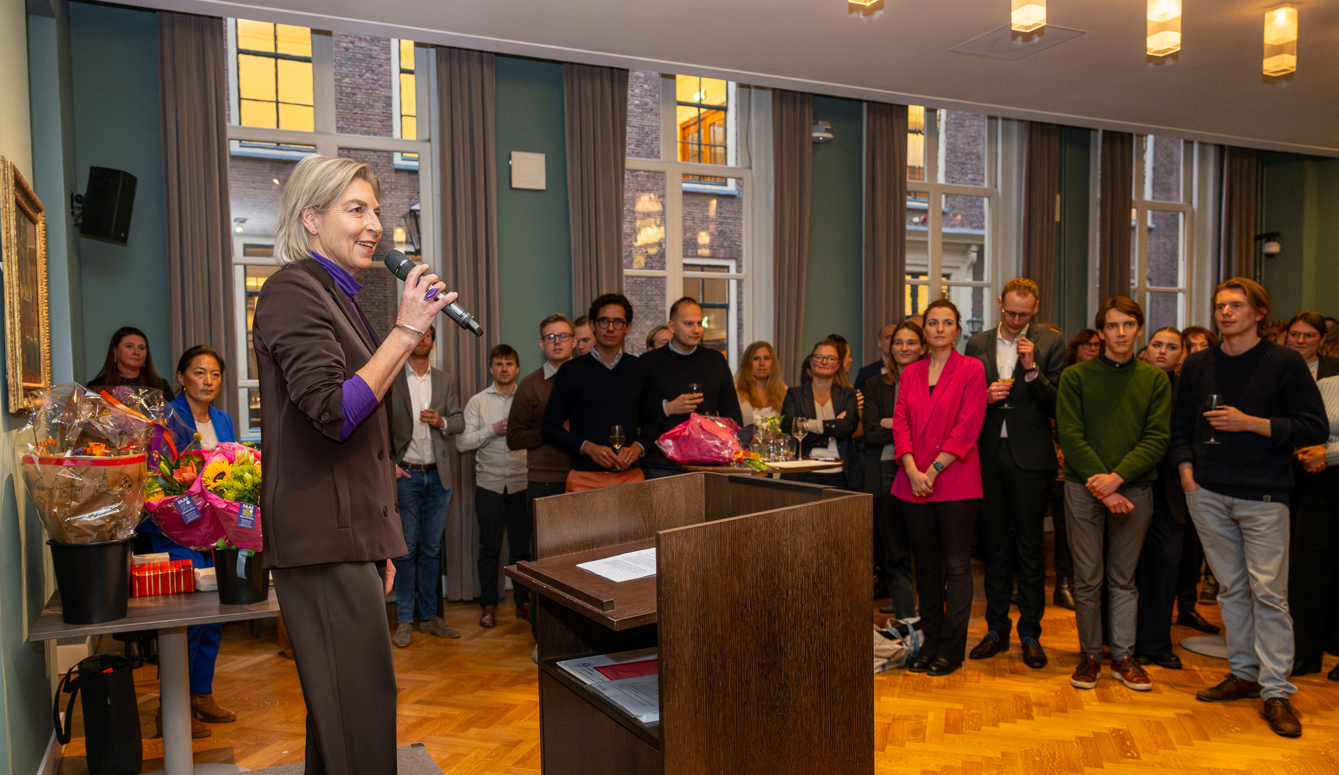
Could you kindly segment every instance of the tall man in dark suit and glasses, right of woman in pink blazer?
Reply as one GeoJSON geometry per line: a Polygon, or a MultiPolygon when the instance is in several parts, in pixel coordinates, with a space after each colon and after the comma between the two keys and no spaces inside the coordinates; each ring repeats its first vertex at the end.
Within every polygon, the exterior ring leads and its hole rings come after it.
{"type": "Polygon", "coordinates": [[[1036,284],[1010,280],[999,297],[1000,324],[967,343],[967,355],[986,365],[990,384],[986,423],[977,439],[984,499],[980,550],[986,559],[986,624],[973,660],[1008,651],[1010,602],[1018,574],[1018,634],[1023,663],[1046,667],[1042,614],[1046,612],[1046,555],[1042,537],[1046,502],[1055,479],[1055,388],[1065,368],[1065,339],[1032,323],[1036,284]],[[1008,381],[1003,381],[1008,380],[1008,381]]]}

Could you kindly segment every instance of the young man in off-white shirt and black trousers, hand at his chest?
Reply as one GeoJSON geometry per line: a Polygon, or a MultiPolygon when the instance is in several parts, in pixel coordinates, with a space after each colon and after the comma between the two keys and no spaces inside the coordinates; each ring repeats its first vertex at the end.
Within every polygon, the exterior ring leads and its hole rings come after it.
{"type": "MultiPolygon", "coordinates": [[[[495,626],[498,601],[498,557],[502,531],[507,534],[507,558],[530,559],[533,523],[526,509],[525,450],[506,446],[507,415],[516,396],[521,356],[509,344],[489,352],[493,384],[470,396],[465,404],[465,432],[455,442],[462,452],[474,450],[474,513],[479,521],[479,626],[495,626]]],[[[530,590],[514,585],[517,618],[530,618],[530,590]]]]}

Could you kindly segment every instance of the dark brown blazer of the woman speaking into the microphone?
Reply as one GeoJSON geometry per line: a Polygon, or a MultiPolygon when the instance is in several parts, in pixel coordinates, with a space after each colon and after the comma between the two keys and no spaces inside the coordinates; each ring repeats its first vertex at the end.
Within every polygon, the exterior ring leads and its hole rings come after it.
{"type": "Polygon", "coordinates": [[[252,331],[265,434],[265,565],[403,557],[387,402],[339,438],[343,383],[371,360],[375,335],[312,258],[265,281],[252,331]]]}

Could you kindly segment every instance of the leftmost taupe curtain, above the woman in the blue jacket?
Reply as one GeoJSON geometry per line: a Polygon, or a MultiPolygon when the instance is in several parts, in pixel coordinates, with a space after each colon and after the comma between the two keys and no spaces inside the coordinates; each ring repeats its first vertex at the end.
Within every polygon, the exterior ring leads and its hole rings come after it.
{"type": "MultiPolygon", "coordinates": [[[[163,198],[167,237],[167,304],[171,353],[197,344],[232,359],[233,242],[228,201],[228,37],[213,16],[158,12],[158,98],[162,111],[163,198]]],[[[233,363],[221,404],[241,424],[233,363]]]]}

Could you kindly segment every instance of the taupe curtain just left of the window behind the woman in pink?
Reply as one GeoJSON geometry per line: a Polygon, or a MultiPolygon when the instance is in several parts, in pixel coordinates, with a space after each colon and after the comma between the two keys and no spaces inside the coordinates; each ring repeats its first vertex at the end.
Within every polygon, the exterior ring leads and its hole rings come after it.
{"type": "Polygon", "coordinates": [[[907,106],[866,102],[865,357],[861,363],[880,357],[878,331],[901,321],[905,284],[907,106]]]}

